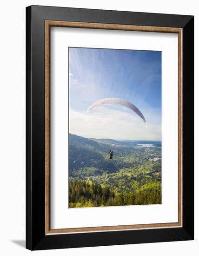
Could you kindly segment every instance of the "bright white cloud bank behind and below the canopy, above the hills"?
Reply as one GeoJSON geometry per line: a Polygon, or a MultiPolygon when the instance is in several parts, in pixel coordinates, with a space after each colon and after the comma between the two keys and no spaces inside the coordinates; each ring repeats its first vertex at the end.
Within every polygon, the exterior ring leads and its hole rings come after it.
{"type": "Polygon", "coordinates": [[[132,111],[99,107],[91,112],[69,110],[69,132],[87,138],[161,140],[159,116],[145,112],[146,124],[132,111]]]}

